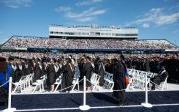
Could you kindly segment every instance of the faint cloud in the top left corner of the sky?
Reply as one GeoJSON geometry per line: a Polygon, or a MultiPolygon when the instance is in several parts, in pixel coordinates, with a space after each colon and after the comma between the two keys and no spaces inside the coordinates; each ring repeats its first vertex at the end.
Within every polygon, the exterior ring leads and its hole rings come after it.
{"type": "Polygon", "coordinates": [[[10,8],[30,7],[32,0],[3,0],[3,3],[10,8]]]}

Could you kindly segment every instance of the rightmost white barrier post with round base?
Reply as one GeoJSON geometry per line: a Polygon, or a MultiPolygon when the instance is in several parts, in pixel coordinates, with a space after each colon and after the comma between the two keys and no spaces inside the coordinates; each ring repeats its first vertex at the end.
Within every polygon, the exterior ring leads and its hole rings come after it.
{"type": "Polygon", "coordinates": [[[145,74],[145,102],[141,103],[142,106],[151,108],[152,104],[148,103],[148,85],[147,85],[147,74],[145,74]]]}

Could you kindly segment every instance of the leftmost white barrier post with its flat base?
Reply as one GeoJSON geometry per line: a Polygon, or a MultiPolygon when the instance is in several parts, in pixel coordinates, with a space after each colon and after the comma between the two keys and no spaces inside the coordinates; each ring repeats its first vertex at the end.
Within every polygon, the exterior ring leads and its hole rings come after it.
{"type": "Polygon", "coordinates": [[[3,110],[3,112],[14,112],[16,108],[11,107],[11,92],[12,92],[12,77],[9,77],[9,95],[8,95],[8,108],[3,110]]]}

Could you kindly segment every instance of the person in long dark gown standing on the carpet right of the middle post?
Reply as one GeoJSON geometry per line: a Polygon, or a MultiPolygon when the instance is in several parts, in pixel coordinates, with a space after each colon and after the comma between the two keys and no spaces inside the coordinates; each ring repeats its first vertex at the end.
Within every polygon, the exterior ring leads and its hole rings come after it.
{"type": "Polygon", "coordinates": [[[113,63],[112,71],[113,71],[113,81],[114,81],[113,96],[117,100],[118,104],[122,104],[124,103],[125,100],[124,89],[126,89],[126,85],[124,82],[124,77],[126,75],[126,71],[121,60],[114,58],[112,60],[112,63],[113,63]]]}

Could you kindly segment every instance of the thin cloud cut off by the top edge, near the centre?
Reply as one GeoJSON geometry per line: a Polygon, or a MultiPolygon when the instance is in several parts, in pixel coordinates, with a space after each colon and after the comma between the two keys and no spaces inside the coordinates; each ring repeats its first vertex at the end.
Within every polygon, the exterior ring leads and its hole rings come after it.
{"type": "Polygon", "coordinates": [[[102,2],[103,0],[78,0],[77,6],[92,5],[94,3],[102,2]]]}

